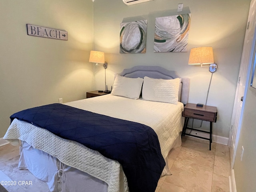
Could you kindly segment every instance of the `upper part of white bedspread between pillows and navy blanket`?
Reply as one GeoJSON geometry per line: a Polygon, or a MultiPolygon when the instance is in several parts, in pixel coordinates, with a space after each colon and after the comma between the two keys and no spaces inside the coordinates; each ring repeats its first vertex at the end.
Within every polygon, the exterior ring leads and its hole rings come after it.
{"type": "Polygon", "coordinates": [[[150,126],[158,135],[164,158],[168,155],[179,132],[182,131],[184,122],[181,118],[184,105],[181,102],[174,105],[108,94],[69,102],[66,105],[150,126]]]}

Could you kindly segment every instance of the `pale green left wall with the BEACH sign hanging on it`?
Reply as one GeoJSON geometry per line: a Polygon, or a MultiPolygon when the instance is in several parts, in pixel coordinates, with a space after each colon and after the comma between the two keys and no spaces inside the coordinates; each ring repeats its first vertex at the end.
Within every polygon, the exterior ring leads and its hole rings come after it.
{"type": "Polygon", "coordinates": [[[86,98],[93,88],[91,0],[0,0],[0,138],[19,110],[86,98]],[[68,41],[27,35],[26,24],[68,32],[68,41]]]}

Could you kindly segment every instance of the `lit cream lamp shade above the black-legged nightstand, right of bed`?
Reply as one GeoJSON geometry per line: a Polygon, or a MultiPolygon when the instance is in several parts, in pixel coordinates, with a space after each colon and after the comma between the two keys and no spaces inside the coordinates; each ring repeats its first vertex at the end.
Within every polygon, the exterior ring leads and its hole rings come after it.
{"type": "Polygon", "coordinates": [[[202,65],[213,64],[213,52],[212,47],[196,47],[190,50],[190,56],[188,64],[190,65],[202,65]]]}

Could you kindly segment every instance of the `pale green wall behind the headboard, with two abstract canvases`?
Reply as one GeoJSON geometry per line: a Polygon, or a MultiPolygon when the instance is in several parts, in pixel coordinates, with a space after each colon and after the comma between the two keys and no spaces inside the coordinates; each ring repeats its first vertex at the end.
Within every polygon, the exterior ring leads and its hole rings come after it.
{"type": "MultiPolygon", "coordinates": [[[[176,70],[190,78],[189,102],[205,103],[211,73],[208,68],[188,65],[190,49],[212,46],[218,65],[212,77],[207,104],[218,108],[213,134],[228,138],[236,84],[243,49],[250,0],[154,0],[127,6],[122,0],[94,1],[94,49],[106,53],[107,84],[113,84],[114,73],[136,65],[157,65],[176,70]],[[155,18],[191,13],[188,52],[154,53],[155,18]],[[148,20],[146,53],[120,54],[120,23],[148,20]]],[[[104,88],[104,70],[95,68],[96,89],[104,88]]],[[[195,122],[195,126],[200,125],[195,122]]],[[[203,122],[209,130],[209,123],[203,122]]]]}

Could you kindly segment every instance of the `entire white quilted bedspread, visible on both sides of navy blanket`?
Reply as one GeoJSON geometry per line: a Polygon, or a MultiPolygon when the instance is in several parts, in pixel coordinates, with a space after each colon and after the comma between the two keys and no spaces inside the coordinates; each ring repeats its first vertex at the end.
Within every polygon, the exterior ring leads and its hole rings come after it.
{"type": "MultiPolygon", "coordinates": [[[[164,158],[182,131],[183,104],[180,102],[174,105],[108,94],[69,102],[66,105],[150,126],[158,135],[164,158]]],[[[62,163],[106,182],[108,192],[129,191],[122,166],[82,144],[62,139],[43,128],[16,119],[8,128],[4,139],[12,144],[18,144],[18,140],[26,141],[34,148],[58,158],[62,163]]]]}

